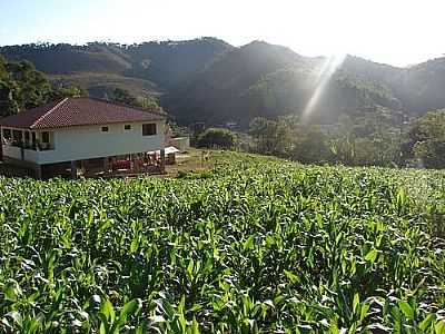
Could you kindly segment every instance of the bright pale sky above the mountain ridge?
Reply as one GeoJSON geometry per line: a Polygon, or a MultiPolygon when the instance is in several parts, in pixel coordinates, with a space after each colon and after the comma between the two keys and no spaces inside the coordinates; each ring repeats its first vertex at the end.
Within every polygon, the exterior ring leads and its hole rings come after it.
{"type": "Polygon", "coordinates": [[[445,53],[445,0],[0,0],[0,46],[253,40],[408,66],[445,53]]]}

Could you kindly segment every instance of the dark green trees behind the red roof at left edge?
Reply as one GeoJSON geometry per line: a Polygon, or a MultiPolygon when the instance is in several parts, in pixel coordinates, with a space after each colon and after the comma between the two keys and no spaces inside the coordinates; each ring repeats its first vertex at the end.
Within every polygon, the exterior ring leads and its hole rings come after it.
{"type": "Polygon", "coordinates": [[[62,97],[83,95],[75,87],[53,87],[29,61],[0,57],[0,117],[14,115],[62,97]]]}

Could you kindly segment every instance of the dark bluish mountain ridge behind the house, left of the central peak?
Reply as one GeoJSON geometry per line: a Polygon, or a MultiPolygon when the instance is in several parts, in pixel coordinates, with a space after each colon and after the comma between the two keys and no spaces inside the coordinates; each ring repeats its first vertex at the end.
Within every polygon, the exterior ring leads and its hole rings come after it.
{"type": "Polygon", "coordinates": [[[0,48],[0,55],[9,60],[29,60],[57,84],[77,85],[95,97],[105,97],[115,88],[136,95],[160,95],[231,48],[215,38],[200,38],[131,46],[9,46],[0,48]]]}

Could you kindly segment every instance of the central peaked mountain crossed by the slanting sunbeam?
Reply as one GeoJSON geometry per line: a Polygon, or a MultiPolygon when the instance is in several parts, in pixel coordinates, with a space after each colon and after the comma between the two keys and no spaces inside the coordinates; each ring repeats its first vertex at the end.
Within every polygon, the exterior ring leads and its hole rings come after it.
{"type": "Polygon", "coordinates": [[[191,81],[167,94],[164,102],[181,121],[233,120],[244,126],[256,116],[301,115],[309,101],[314,109],[310,118],[320,122],[377,105],[400,109],[392,90],[378,82],[356,78],[342,68],[323,72],[328,61],[255,41],[225,53],[191,81]],[[322,81],[323,90],[314,100],[322,81]]]}

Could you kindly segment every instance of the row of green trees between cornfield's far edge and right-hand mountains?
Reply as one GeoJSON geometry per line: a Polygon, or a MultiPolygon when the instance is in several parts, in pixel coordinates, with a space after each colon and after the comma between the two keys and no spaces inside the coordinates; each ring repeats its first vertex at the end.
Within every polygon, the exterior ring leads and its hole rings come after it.
{"type": "Polygon", "coordinates": [[[303,164],[445,168],[445,109],[400,122],[384,114],[342,116],[335,125],[305,124],[296,116],[257,117],[247,134],[207,128],[198,147],[233,148],[303,164]]]}

